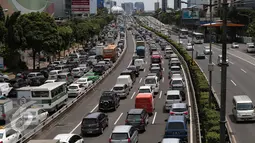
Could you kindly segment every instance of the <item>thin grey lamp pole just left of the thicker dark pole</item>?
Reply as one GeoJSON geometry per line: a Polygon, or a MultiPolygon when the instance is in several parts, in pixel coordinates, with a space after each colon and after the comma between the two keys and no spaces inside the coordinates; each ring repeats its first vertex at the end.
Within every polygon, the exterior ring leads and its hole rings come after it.
{"type": "Polygon", "coordinates": [[[210,41],[210,56],[209,56],[209,108],[212,107],[212,72],[213,72],[213,64],[212,64],[212,0],[210,0],[210,29],[209,29],[209,41],[210,41]]]}

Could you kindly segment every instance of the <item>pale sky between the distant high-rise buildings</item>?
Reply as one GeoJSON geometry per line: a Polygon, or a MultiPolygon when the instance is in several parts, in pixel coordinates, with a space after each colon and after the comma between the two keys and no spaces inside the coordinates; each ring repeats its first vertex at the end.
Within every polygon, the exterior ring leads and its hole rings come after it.
{"type": "MultiPolygon", "coordinates": [[[[143,2],[145,10],[154,10],[154,3],[159,2],[159,7],[161,8],[161,1],[162,0],[116,0],[117,5],[121,6],[121,3],[124,2],[143,2]]],[[[187,1],[187,0],[184,0],[187,1]]],[[[174,8],[174,0],[167,0],[168,2],[168,7],[174,8]]],[[[182,4],[182,7],[187,7],[185,4],[182,4]]]]}

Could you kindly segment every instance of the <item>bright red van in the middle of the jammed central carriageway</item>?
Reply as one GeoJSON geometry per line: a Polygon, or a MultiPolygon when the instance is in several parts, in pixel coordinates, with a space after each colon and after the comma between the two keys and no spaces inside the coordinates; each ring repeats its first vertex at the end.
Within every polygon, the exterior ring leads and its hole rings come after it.
{"type": "Polygon", "coordinates": [[[135,98],[135,108],[145,109],[148,114],[152,115],[155,105],[151,93],[139,93],[135,98]]]}

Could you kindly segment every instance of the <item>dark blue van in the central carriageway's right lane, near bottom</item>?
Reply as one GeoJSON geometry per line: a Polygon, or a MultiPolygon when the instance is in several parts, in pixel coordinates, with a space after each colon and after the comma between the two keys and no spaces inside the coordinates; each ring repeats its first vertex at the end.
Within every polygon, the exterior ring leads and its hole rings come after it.
{"type": "Polygon", "coordinates": [[[185,116],[169,116],[166,122],[164,138],[179,138],[183,142],[188,141],[188,121],[185,116]]]}

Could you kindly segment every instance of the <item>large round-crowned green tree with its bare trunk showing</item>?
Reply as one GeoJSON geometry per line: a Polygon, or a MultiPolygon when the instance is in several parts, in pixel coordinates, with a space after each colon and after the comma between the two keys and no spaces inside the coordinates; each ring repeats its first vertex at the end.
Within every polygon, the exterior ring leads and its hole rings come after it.
{"type": "Polygon", "coordinates": [[[35,69],[36,54],[48,51],[58,43],[57,24],[47,13],[32,12],[21,15],[15,24],[17,35],[23,50],[31,49],[33,69],[35,69]]]}

